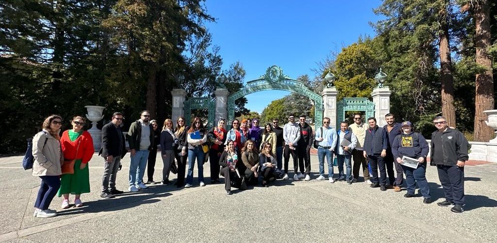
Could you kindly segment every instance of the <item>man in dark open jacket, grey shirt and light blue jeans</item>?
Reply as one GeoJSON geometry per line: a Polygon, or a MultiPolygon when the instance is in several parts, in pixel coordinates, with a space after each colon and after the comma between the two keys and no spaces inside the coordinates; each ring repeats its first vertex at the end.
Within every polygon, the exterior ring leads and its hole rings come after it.
{"type": "Polygon", "coordinates": [[[128,131],[128,143],[131,150],[131,164],[129,166],[129,191],[137,192],[145,189],[143,174],[149,152],[154,146],[154,127],[149,122],[150,112],[141,112],[141,118],[131,123],[128,131]]]}

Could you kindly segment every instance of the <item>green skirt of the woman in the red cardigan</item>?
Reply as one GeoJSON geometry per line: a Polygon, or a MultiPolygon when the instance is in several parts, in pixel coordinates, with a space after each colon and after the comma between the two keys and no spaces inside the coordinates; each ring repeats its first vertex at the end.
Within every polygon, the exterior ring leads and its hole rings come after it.
{"type": "Polygon", "coordinates": [[[59,189],[58,196],[62,194],[83,194],[90,192],[90,179],[88,164],[84,169],[80,169],[81,159],[76,160],[74,163],[74,174],[63,174],[61,176],[61,188],[59,189]]]}

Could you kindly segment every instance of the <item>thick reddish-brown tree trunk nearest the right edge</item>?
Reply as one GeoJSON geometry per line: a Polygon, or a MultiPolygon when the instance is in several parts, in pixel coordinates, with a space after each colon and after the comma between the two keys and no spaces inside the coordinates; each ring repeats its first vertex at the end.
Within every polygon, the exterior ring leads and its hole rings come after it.
{"type": "Polygon", "coordinates": [[[487,115],[483,113],[484,111],[494,109],[493,69],[492,61],[487,52],[492,44],[488,0],[480,0],[476,5],[475,21],[476,63],[484,66],[487,70],[476,75],[474,140],[488,142],[494,135],[494,129],[485,123],[487,115]]]}

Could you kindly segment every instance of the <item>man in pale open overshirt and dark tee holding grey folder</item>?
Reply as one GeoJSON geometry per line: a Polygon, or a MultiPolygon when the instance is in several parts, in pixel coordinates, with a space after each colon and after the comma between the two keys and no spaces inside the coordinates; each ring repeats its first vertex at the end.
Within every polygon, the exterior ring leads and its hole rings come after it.
{"type": "Polygon", "coordinates": [[[352,131],[348,130],[348,122],[340,122],[340,130],[337,132],[336,141],[336,160],[338,162],[338,181],[347,181],[348,185],[352,185],[352,150],[357,144],[357,138],[352,131]],[[343,175],[343,163],[346,167],[346,176],[343,175]]]}

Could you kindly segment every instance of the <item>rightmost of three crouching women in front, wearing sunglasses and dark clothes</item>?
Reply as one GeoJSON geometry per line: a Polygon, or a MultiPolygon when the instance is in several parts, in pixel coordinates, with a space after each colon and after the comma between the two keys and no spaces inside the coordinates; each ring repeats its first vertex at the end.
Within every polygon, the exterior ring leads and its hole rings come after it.
{"type": "Polygon", "coordinates": [[[269,182],[275,181],[276,176],[282,174],[281,170],[278,170],[276,167],[276,156],[273,152],[273,146],[269,142],[262,143],[259,166],[262,175],[262,185],[265,187],[268,187],[269,182]]]}

